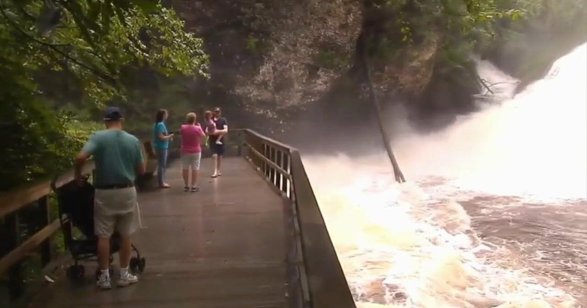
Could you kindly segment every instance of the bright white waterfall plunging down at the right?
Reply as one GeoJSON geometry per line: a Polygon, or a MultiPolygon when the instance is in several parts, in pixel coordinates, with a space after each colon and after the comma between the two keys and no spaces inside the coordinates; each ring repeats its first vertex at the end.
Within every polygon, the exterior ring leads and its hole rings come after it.
{"type": "Polygon", "coordinates": [[[480,62],[480,75],[500,83],[493,104],[481,103],[482,112],[436,134],[418,136],[407,129],[394,141],[400,163],[412,176],[439,174],[464,188],[587,198],[586,50],[579,46],[544,79],[505,100],[515,79],[480,62]]]}

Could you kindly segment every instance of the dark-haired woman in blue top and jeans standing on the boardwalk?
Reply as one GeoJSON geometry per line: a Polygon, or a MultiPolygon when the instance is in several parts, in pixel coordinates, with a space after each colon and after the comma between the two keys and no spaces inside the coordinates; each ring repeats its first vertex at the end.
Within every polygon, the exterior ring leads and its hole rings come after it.
{"type": "Polygon", "coordinates": [[[167,131],[165,126],[167,120],[167,110],[159,109],[155,118],[153,126],[153,147],[157,153],[157,180],[160,188],[169,188],[169,184],[163,181],[165,175],[165,168],[167,166],[167,151],[169,150],[169,140],[173,138],[173,134],[167,131]]]}

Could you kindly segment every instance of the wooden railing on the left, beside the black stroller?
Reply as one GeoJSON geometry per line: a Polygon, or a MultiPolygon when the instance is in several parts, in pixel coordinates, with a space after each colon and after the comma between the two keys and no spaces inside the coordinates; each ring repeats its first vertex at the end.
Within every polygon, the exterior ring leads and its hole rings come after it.
{"type": "MultiPolygon", "coordinates": [[[[150,144],[145,143],[143,146],[146,163],[153,164],[150,144]]],[[[94,163],[90,161],[82,172],[90,174],[93,170],[94,163]]],[[[73,178],[73,170],[56,177],[55,188],[68,184],[73,178]]],[[[21,296],[25,289],[23,259],[37,252],[41,255],[41,266],[44,267],[54,257],[51,241],[52,236],[60,229],[60,221],[59,217],[50,217],[49,194],[52,180],[48,178],[25,188],[0,193],[0,277],[7,275],[11,299],[21,296]],[[37,218],[32,228],[39,230],[21,241],[21,214],[31,210],[34,213],[28,216],[37,218]]]]}

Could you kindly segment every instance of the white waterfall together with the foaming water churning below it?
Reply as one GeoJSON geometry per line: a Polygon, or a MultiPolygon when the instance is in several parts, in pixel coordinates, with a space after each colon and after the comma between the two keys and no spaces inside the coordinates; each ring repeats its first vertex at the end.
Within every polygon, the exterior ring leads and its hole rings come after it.
{"type": "MultiPolygon", "coordinates": [[[[491,206],[475,208],[487,217],[511,206],[512,198],[522,209],[524,200],[584,202],[586,59],[582,45],[515,97],[515,79],[479,62],[480,75],[500,83],[480,97],[482,111],[426,136],[405,128],[394,141],[411,180],[406,184],[393,182],[382,153],[304,157],[357,306],[581,306],[572,287],[528,269],[521,255],[526,243],[516,242],[517,234],[509,246],[482,238],[472,223],[479,217],[459,202],[490,200],[491,206]]],[[[576,213],[579,222],[584,212],[576,213]]],[[[496,222],[494,229],[503,226],[496,222]]],[[[587,290],[582,285],[579,279],[579,293],[587,290]]]]}

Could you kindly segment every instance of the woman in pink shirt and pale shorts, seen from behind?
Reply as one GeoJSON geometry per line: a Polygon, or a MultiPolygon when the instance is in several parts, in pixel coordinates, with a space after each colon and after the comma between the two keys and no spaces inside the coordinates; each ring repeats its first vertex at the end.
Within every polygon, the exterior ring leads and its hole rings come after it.
{"type": "Polygon", "coordinates": [[[184,191],[197,192],[198,171],[200,170],[200,158],[202,157],[201,139],[205,136],[200,124],[195,123],[195,113],[190,112],[186,117],[187,124],[181,126],[181,168],[185,188],[184,191]],[[191,185],[190,185],[191,168],[191,185]]]}

